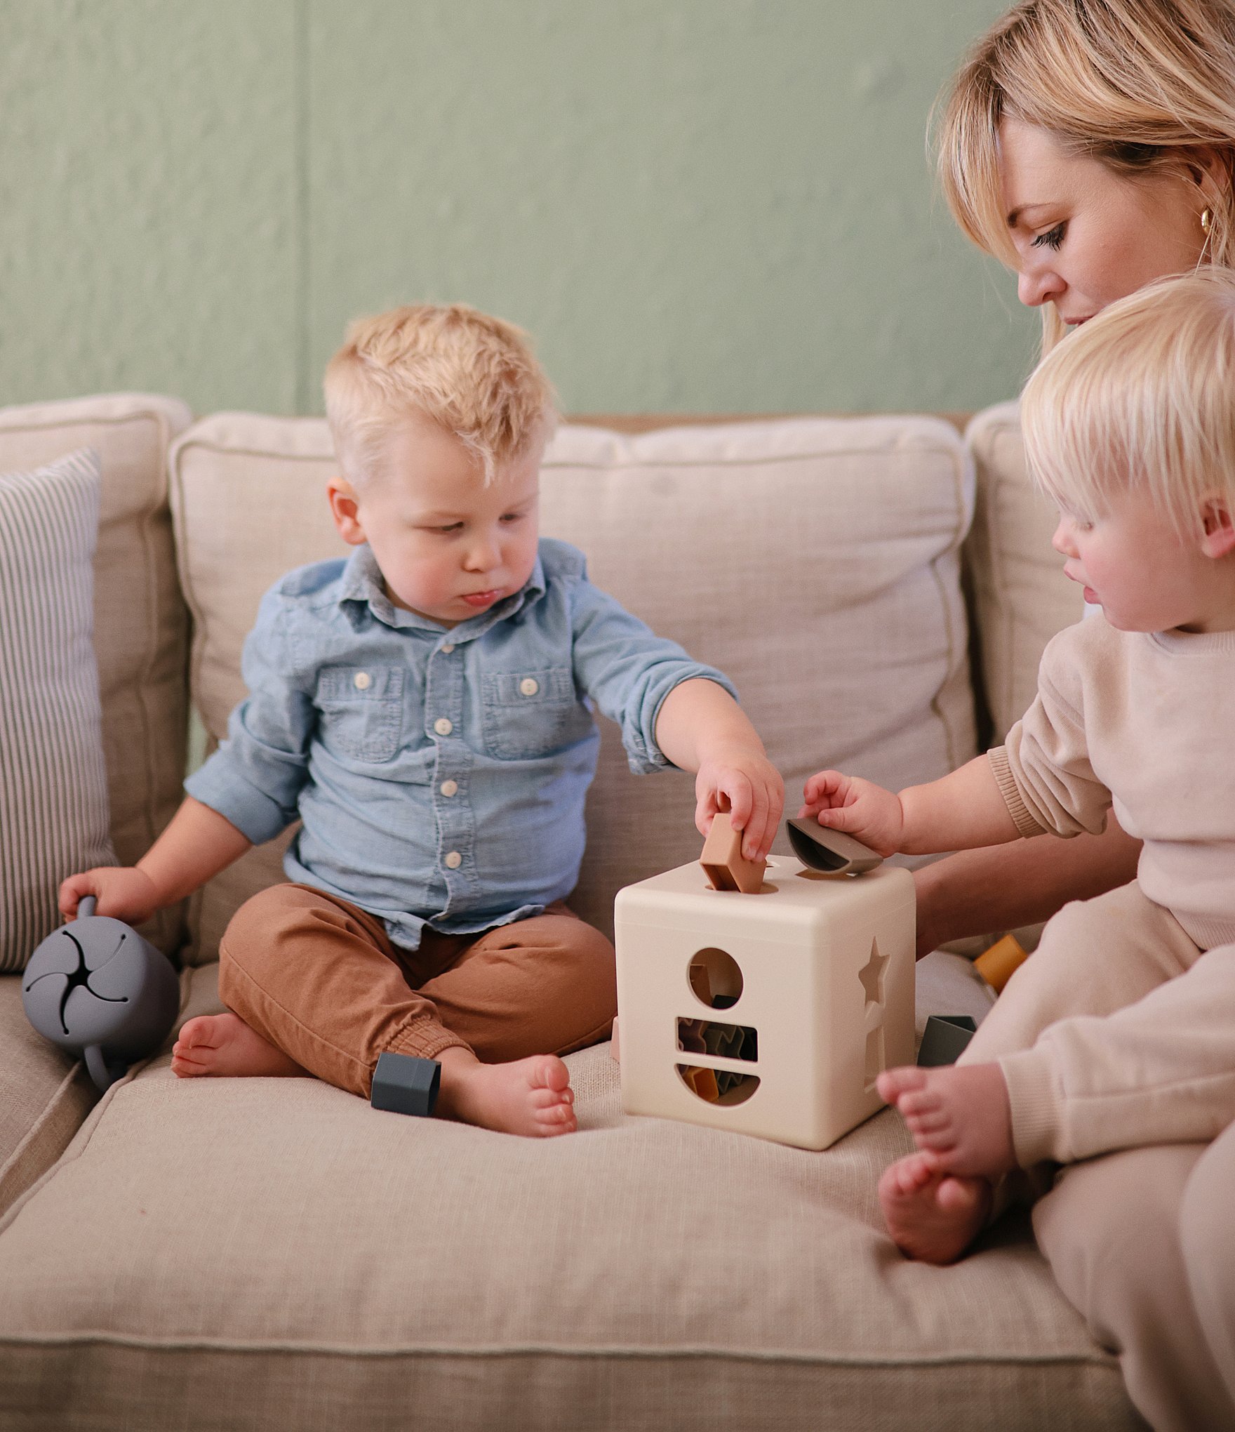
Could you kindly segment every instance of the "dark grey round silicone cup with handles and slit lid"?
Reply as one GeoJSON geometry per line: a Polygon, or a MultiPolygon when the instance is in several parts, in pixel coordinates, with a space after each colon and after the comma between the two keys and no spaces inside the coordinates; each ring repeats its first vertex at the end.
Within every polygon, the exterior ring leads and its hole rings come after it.
{"type": "Polygon", "coordinates": [[[180,981],[166,955],[123,921],[96,915],[86,895],[77,918],[30,957],[21,1004],[34,1028],[82,1055],[106,1091],[172,1032],[180,981]]]}

